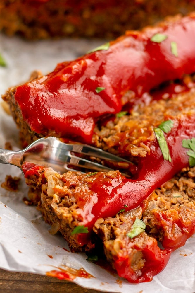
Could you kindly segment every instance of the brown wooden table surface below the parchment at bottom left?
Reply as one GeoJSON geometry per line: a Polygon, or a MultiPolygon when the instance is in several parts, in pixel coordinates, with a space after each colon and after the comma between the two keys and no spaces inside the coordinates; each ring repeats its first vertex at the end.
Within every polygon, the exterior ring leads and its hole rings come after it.
{"type": "MultiPolygon", "coordinates": [[[[0,269],[0,293],[99,293],[75,283],[43,275],[0,269]]],[[[102,291],[101,291],[102,292],[102,291]]]]}

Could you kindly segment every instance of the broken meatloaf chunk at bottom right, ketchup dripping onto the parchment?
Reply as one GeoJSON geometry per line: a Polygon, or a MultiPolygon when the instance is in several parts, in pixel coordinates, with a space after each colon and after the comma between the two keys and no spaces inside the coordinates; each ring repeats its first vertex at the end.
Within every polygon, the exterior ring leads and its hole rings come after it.
{"type": "Polygon", "coordinates": [[[195,232],[194,178],[195,167],[185,168],[155,189],[137,209],[96,221],[94,231],[103,242],[106,258],[121,277],[131,282],[148,280],[156,260],[169,254],[169,249],[183,246],[195,232]],[[131,238],[128,233],[132,232],[135,219],[141,219],[146,229],[131,238]]]}

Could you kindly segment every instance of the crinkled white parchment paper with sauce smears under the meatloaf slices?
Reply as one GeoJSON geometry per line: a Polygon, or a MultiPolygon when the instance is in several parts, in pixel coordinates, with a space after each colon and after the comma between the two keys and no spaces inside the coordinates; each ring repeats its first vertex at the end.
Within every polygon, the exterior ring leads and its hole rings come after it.
{"type": "MultiPolygon", "coordinates": [[[[102,41],[55,40],[25,42],[18,38],[0,35],[0,53],[7,67],[0,67],[0,94],[10,86],[26,81],[35,69],[44,74],[52,71],[58,62],[75,59],[102,41]]],[[[18,149],[18,131],[12,117],[0,106],[0,147],[10,142],[18,149]]],[[[15,166],[0,164],[0,183],[5,176],[19,176],[18,192],[0,188],[0,267],[11,271],[34,272],[45,275],[63,265],[84,268],[93,277],[77,277],[74,282],[104,292],[172,293],[195,292],[195,235],[185,246],[175,251],[163,272],[152,282],[130,284],[117,275],[86,261],[83,253],[69,252],[68,245],[59,234],[51,235],[50,229],[34,206],[26,206],[27,196],[23,176],[15,166]],[[65,249],[67,250],[65,250],[65,249]]]]}

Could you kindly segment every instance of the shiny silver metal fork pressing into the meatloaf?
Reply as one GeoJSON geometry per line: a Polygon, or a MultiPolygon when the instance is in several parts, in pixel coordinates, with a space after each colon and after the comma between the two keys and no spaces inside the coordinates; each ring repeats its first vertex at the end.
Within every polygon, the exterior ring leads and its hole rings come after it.
{"type": "Polygon", "coordinates": [[[56,137],[38,139],[25,149],[19,151],[0,149],[0,163],[15,165],[22,172],[22,164],[24,162],[52,167],[60,173],[78,171],[77,167],[79,171],[81,168],[89,169],[89,171],[103,172],[113,170],[107,166],[103,166],[101,163],[91,161],[91,158],[82,158],[80,157],[81,155],[99,158],[103,161],[121,162],[127,165],[132,164],[130,161],[110,154],[102,149],[86,144],[66,144],[56,137]],[[79,154],[79,156],[75,153],[79,154]],[[74,168],[70,168],[70,166],[74,166],[74,168]]]}

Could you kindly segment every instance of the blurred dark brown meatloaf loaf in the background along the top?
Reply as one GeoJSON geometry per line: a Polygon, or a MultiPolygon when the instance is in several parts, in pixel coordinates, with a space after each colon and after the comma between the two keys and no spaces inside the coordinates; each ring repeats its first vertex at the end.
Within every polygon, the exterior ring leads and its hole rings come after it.
{"type": "Polygon", "coordinates": [[[0,30],[27,39],[81,36],[114,38],[168,15],[193,11],[193,0],[3,0],[0,30]]]}

